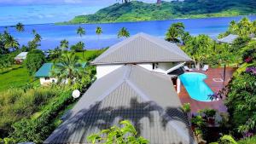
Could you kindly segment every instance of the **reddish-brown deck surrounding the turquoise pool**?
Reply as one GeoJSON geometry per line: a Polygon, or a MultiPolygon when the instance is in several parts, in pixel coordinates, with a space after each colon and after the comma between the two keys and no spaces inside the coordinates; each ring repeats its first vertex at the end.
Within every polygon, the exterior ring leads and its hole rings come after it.
{"type": "MultiPolygon", "coordinates": [[[[224,82],[215,82],[212,78],[222,78],[224,68],[210,68],[207,72],[194,70],[194,72],[200,72],[207,75],[205,79],[205,83],[212,89],[213,92],[218,92],[218,90],[224,88],[224,85],[228,84],[230,78],[232,77],[233,72],[235,72],[236,68],[227,67],[226,68],[226,80],[224,82]]],[[[220,101],[211,101],[211,102],[203,102],[203,101],[195,101],[190,98],[187,90],[184,88],[183,84],[181,84],[181,92],[178,94],[179,99],[182,103],[190,103],[191,112],[195,113],[200,109],[204,108],[213,108],[218,110],[219,112],[227,112],[227,108],[224,106],[222,100],[220,101]]]]}

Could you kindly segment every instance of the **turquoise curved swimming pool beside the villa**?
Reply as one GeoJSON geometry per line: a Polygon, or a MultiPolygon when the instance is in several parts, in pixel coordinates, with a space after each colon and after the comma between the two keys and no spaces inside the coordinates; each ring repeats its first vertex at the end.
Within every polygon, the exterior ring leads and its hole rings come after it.
{"type": "Polygon", "coordinates": [[[211,101],[208,95],[212,95],[213,91],[204,82],[207,75],[196,72],[186,72],[180,75],[179,78],[192,99],[196,101],[211,101]]]}

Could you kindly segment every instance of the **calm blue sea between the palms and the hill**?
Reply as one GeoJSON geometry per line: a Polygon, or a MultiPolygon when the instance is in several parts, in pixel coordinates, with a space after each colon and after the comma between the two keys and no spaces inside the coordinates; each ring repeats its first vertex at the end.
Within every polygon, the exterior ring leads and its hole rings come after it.
{"type": "MultiPolygon", "coordinates": [[[[256,20],[256,16],[248,16],[250,20],[256,20]]],[[[15,27],[9,27],[9,32],[18,39],[20,44],[26,44],[32,40],[32,29],[35,29],[42,37],[41,49],[54,49],[60,44],[62,39],[67,39],[70,44],[83,41],[85,49],[100,49],[102,47],[111,46],[119,42],[117,33],[122,27],[126,27],[131,35],[137,32],[146,32],[156,37],[165,37],[166,30],[172,23],[183,22],[186,31],[191,35],[207,34],[212,38],[216,38],[219,33],[225,32],[231,20],[241,20],[241,17],[225,17],[225,18],[207,18],[207,19],[183,19],[183,20],[161,20],[161,21],[143,21],[143,22],[123,22],[110,24],[84,24],[84,25],[67,25],[55,26],[54,24],[29,25],[25,26],[25,32],[16,32],[15,27]],[[86,35],[79,37],[76,29],[83,26],[86,35]],[[102,35],[97,37],[96,26],[102,27],[102,35]]],[[[0,27],[3,32],[4,26],[0,27]]]]}

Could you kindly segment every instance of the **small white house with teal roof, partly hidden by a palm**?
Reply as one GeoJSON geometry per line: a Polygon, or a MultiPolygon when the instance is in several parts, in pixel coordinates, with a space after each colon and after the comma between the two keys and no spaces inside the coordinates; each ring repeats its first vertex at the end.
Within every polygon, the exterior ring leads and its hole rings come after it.
{"type": "MultiPolygon", "coordinates": [[[[52,66],[53,63],[44,63],[36,72],[35,77],[40,78],[40,84],[48,85],[57,82],[57,78],[51,76],[52,66]]],[[[82,66],[85,67],[86,64],[83,63],[82,66]]]]}

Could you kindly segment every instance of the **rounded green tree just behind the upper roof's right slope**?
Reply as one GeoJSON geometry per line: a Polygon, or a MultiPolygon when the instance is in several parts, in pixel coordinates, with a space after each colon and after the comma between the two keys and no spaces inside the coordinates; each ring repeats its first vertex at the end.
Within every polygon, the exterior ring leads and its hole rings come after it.
{"type": "Polygon", "coordinates": [[[184,51],[194,60],[198,70],[200,69],[201,62],[207,60],[212,55],[212,45],[213,41],[207,35],[192,37],[186,43],[184,51]]]}

